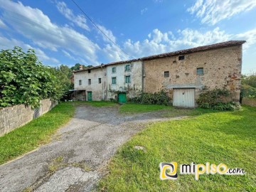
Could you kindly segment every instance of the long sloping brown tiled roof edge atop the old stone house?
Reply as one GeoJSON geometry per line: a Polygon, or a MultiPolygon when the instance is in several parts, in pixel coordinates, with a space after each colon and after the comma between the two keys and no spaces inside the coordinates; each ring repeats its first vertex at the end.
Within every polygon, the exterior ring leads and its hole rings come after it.
{"type": "MultiPolygon", "coordinates": [[[[187,53],[198,52],[198,51],[201,51],[201,50],[209,50],[209,49],[215,49],[215,48],[225,48],[225,47],[229,47],[229,46],[238,46],[238,45],[242,45],[245,42],[246,41],[225,41],[225,42],[222,42],[222,43],[215,43],[215,44],[208,45],[208,46],[200,46],[200,47],[196,47],[196,48],[188,48],[188,49],[183,49],[183,50],[177,50],[177,51],[174,51],[174,52],[162,53],[162,54],[159,54],[159,55],[150,55],[150,56],[147,56],[147,57],[144,57],[144,58],[138,58],[138,59],[133,59],[133,60],[122,60],[122,61],[117,61],[117,62],[113,62],[113,63],[102,64],[102,65],[98,65],[98,66],[95,66],[95,67],[92,67],[92,68],[87,68],[87,69],[84,69],[84,70],[94,69],[94,68],[102,68],[102,67],[107,66],[107,65],[132,63],[132,62],[139,61],[139,60],[151,60],[151,59],[155,59],[155,58],[164,58],[164,57],[169,57],[169,56],[174,56],[174,55],[183,55],[183,54],[187,54],[187,53]]],[[[74,73],[84,71],[84,70],[76,70],[76,71],[74,71],[74,73]]]]}

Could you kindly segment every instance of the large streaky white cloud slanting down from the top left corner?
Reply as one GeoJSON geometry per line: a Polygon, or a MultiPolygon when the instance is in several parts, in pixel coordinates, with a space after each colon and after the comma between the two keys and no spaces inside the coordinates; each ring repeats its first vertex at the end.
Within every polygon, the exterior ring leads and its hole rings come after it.
{"type": "Polygon", "coordinates": [[[3,9],[4,21],[41,48],[53,51],[62,48],[85,58],[85,64],[97,63],[96,52],[100,47],[73,28],[58,26],[41,10],[23,6],[21,2],[0,0],[0,8],[3,9]]]}

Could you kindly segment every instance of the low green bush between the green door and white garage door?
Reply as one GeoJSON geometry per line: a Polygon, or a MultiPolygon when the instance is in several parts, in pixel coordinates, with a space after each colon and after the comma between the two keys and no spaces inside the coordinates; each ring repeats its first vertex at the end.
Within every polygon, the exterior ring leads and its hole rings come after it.
{"type": "Polygon", "coordinates": [[[138,97],[129,98],[129,102],[151,105],[171,105],[171,99],[164,90],[155,93],[142,92],[138,97]]]}

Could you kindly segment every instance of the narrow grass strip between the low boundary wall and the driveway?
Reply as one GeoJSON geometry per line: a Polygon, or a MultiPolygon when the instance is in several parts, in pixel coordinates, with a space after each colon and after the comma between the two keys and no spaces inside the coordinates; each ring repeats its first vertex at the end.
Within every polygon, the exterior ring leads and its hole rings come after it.
{"type": "Polygon", "coordinates": [[[75,113],[71,102],[63,102],[28,124],[0,137],[0,164],[15,159],[50,141],[56,130],[75,113]]]}

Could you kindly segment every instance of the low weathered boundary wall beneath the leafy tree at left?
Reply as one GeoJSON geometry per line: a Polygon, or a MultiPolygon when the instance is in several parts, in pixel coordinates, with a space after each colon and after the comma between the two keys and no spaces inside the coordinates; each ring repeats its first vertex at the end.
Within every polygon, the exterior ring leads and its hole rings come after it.
{"type": "Polygon", "coordinates": [[[42,100],[40,107],[34,110],[25,105],[0,108],[0,136],[21,127],[42,114],[45,114],[55,107],[55,105],[58,105],[58,102],[46,99],[42,100]]]}

